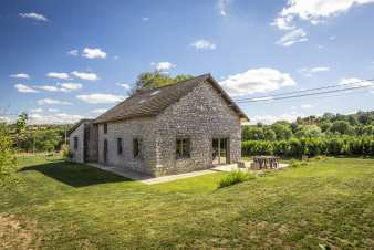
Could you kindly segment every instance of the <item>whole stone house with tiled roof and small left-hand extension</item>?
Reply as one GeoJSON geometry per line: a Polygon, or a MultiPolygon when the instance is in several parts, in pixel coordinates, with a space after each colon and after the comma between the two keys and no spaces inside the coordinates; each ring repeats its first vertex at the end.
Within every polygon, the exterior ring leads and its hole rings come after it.
{"type": "Polygon", "coordinates": [[[152,176],[237,163],[246,114],[210,74],[141,91],[69,133],[72,160],[152,176]]]}

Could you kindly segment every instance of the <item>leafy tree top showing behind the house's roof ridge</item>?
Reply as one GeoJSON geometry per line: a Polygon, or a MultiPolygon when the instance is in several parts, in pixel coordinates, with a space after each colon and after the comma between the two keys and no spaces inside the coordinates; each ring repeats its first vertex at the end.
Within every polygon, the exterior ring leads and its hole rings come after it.
{"type": "Polygon", "coordinates": [[[160,71],[144,72],[137,76],[135,81],[135,87],[131,90],[129,94],[133,95],[139,90],[153,90],[156,87],[170,85],[170,84],[181,82],[181,81],[185,81],[191,77],[194,76],[185,75],[185,74],[176,75],[173,77],[160,71]]]}

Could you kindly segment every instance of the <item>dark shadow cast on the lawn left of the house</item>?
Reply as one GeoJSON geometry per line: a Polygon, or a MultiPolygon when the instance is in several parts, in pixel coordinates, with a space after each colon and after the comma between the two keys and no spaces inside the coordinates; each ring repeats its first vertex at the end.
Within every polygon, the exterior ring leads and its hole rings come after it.
{"type": "Polygon", "coordinates": [[[39,171],[75,188],[108,183],[132,181],[132,179],[110,171],[90,167],[84,164],[73,164],[63,160],[29,166],[21,168],[19,171],[39,171]]]}

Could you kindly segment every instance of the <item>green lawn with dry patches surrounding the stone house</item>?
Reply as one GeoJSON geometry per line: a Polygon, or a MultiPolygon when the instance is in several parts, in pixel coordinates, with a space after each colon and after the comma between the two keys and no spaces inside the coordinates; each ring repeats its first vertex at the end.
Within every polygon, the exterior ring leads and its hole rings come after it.
{"type": "Polygon", "coordinates": [[[328,158],[218,189],[146,186],[43,156],[0,189],[0,249],[374,249],[374,159],[328,158]]]}

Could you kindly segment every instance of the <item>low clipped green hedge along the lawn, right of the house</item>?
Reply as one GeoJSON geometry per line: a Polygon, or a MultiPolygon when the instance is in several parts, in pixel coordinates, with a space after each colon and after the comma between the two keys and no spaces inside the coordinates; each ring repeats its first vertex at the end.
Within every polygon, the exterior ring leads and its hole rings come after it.
{"type": "Polygon", "coordinates": [[[367,155],[374,156],[374,137],[291,138],[289,140],[246,140],[242,154],[301,157],[302,155],[367,155]]]}

